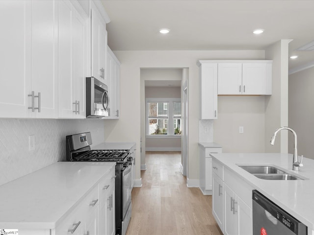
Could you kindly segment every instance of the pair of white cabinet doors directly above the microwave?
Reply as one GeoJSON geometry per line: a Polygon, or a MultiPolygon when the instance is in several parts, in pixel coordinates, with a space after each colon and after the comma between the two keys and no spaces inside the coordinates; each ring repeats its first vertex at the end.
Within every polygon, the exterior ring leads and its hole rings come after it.
{"type": "Polygon", "coordinates": [[[107,48],[107,31],[106,24],[102,19],[98,9],[92,2],[91,9],[91,67],[92,76],[105,83],[106,80],[106,48],[107,48]]]}

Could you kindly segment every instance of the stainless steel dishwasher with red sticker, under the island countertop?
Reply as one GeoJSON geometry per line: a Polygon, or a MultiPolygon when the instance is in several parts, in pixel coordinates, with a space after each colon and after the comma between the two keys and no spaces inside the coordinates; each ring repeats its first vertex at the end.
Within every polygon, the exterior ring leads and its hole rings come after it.
{"type": "Polygon", "coordinates": [[[253,235],[307,235],[307,226],[253,190],[253,235]]]}

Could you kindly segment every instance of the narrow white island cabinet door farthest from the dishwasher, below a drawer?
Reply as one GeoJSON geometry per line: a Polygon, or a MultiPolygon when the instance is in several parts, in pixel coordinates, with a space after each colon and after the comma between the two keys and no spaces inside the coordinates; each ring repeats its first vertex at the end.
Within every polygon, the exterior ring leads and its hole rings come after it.
{"type": "Polygon", "coordinates": [[[223,231],[223,182],[215,174],[212,174],[212,214],[223,231]]]}

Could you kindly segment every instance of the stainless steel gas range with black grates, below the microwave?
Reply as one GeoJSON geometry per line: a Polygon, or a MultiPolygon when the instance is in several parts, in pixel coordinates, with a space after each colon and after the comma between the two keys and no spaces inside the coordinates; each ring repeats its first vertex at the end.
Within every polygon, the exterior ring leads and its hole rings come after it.
{"type": "Polygon", "coordinates": [[[116,162],[115,224],[116,235],[125,235],[131,219],[130,150],[91,150],[90,132],[66,137],[66,161],[116,162]]]}

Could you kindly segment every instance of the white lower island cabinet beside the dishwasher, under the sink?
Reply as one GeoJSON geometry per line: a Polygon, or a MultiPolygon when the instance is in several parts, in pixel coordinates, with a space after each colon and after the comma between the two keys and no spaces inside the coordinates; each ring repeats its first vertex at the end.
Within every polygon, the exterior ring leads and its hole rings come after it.
{"type": "Polygon", "coordinates": [[[212,214],[224,235],[252,235],[252,188],[213,158],[212,214]]]}

